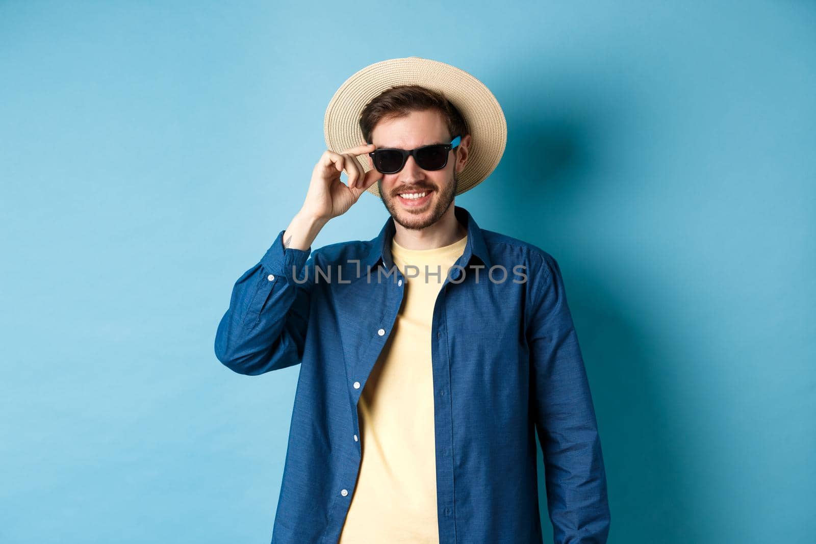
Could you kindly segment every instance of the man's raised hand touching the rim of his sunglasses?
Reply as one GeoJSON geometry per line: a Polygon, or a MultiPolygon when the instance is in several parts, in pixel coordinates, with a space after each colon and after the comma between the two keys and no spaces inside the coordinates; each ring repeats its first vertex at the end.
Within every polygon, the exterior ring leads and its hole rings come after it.
{"type": "Polygon", "coordinates": [[[343,153],[326,149],[314,166],[306,201],[301,209],[304,214],[325,223],[346,213],[360,195],[382,177],[375,168],[363,171],[356,158],[374,149],[374,144],[358,145],[343,153]],[[348,185],[340,181],[340,174],[344,170],[348,175],[348,185]]]}

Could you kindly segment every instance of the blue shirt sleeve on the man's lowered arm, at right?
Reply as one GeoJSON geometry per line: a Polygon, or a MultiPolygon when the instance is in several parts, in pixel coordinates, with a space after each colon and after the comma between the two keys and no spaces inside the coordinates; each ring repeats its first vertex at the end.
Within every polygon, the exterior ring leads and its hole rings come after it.
{"type": "Polygon", "coordinates": [[[544,458],[554,541],[601,544],[610,529],[595,409],[558,263],[534,254],[526,336],[535,426],[544,458]]]}

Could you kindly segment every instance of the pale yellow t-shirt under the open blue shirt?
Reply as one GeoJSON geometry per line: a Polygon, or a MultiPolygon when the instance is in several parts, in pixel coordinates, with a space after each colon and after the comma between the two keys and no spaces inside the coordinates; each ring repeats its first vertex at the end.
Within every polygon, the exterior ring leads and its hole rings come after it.
{"type": "Polygon", "coordinates": [[[408,250],[392,240],[406,293],[357,403],[362,459],[339,544],[439,542],[431,325],[441,285],[467,242],[408,250]]]}

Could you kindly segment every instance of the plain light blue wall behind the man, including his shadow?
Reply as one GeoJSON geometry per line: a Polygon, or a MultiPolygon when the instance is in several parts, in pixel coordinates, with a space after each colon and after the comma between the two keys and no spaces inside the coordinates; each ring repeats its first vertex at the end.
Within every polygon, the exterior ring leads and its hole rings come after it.
{"type": "MultiPolygon", "coordinates": [[[[610,542],[813,542],[814,29],[792,1],[0,2],[0,541],[268,542],[299,367],[233,374],[215,329],[335,89],[416,55],[507,116],[456,203],[561,264],[610,542]]],[[[387,218],[363,195],[313,247],[387,218]]]]}

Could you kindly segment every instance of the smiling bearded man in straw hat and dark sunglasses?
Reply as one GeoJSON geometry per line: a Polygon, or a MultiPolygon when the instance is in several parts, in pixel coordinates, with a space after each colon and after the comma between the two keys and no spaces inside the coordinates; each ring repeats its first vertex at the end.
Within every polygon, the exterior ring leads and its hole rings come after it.
{"type": "Polygon", "coordinates": [[[555,541],[606,541],[557,262],[455,206],[505,139],[486,86],[437,61],[372,64],[335,93],[304,205],[238,278],[215,338],[241,374],[301,364],[273,544],[542,542],[535,429],[555,541]],[[312,251],[362,192],[390,215],[379,236],[312,251]]]}

